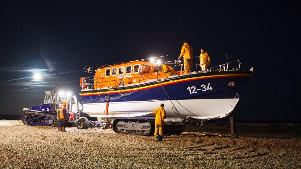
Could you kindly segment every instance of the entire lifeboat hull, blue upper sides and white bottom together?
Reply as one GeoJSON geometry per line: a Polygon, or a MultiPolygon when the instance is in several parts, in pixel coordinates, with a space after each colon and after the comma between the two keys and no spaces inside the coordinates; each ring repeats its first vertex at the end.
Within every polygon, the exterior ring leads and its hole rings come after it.
{"type": "Polygon", "coordinates": [[[170,98],[182,116],[221,118],[234,110],[252,74],[252,71],[192,73],[112,90],[79,93],[83,111],[92,117],[151,116],[160,103],[165,104],[167,117],[178,116],[170,98]],[[105,115],[107,103],[108,115],[105,115]]]}

